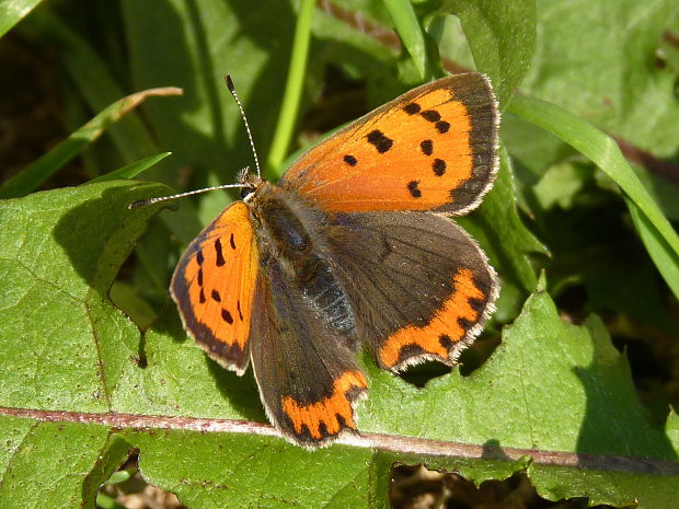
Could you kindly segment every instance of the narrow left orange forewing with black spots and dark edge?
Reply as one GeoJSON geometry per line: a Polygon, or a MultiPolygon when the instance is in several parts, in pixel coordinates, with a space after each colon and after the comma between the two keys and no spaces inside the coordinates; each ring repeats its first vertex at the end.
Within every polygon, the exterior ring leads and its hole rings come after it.
{"type": "Polygon", "coordinates": [[[184,327],[207,354],[241,374],[250,359],[250,320],[258,250],[248,206],[229,206],[192,242],[171,293],[184,327]]]}

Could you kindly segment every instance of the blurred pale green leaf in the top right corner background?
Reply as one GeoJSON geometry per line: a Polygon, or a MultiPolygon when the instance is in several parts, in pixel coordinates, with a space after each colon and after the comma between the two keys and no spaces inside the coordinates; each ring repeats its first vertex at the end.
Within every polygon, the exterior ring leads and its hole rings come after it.
{"type": "Polygon", "coordinates": [[[677,71],[656,65],[679,30],[675,0],[539,0],[538,44],[521,90],[669,158],[679,149],[677,71]]]}

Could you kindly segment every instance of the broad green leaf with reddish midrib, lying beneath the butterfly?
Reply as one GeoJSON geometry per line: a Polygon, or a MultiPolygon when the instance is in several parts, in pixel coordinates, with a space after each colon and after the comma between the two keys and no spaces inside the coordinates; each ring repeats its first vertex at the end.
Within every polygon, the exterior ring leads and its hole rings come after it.
{"type": "Polygon", "coordinates": [[[679,488],[675,417],[669,433],[649,424],[600,320],[563,323],[544,282],[472,374],[454,369],[416,389],[364,358],[371,392],[358,423],[366,438],[317,452],[285,443],[249,423],[265,421],[252,374],[238,378],[207,359],[173,306],[141,340],[106,299],[134,239],[158,210],[127,205],[161,190],[110,182],[0,206],[0,259],[9,274],[0,293],[7,507],[21,507],[12,498],[23,494],[18,478],[30,484],[35,475],[56,486],[55,507],[68,507],[64,500],[76,493],[88,498],[83,486],[105,478],[129,447],[139,449],[142,475],[192,509],[233,506],[235,494],[267,507],[387,507],[395,460],[479,483],[525,468],[518,460],[532,455],[529,475],[552,499],[660,507],[679,488]],[[47,418],[57,423],[39,424],[47,418]],[[33,429],[45,432],[23,448],[33,429]],[[66,444],[71,438],[77,452],[66,444]],[[72,462],[56,471],[25,466],[69,454],[72,462]],[[279,475],[292,468],[295,479],[279,475]]]}

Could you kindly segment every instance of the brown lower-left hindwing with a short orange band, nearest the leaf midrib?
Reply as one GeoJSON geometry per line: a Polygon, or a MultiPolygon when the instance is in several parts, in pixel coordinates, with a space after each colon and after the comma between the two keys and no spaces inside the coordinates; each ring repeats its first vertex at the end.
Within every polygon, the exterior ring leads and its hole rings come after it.
{"type": "Polygon", "coordinates": [[[276,259],[257,280],[252,365],[272,424],[314,448],[355,432],[355,402],[367,380],[344,340],[309,306],[276,259]]]}

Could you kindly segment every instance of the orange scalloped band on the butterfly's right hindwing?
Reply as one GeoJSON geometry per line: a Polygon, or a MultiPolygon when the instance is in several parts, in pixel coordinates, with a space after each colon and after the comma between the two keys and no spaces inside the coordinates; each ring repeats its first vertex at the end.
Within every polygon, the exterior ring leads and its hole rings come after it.
{"type": "Polygon", "coordinates": [[[475,284],[471,269],[462,268],[453,276],[453,292],[442,303],[441,309],[428,324],[417,327],[407,325],[392,334],[379,350],[383,366],[393,368],[401,360],[402,350],[411,345],[424,352],[448,360],[450,347],[464,338],[469,327],[460,321],[475,323],[481,312],[471,303],[472,300],[485,300],[486,296],[475,284]]]}

